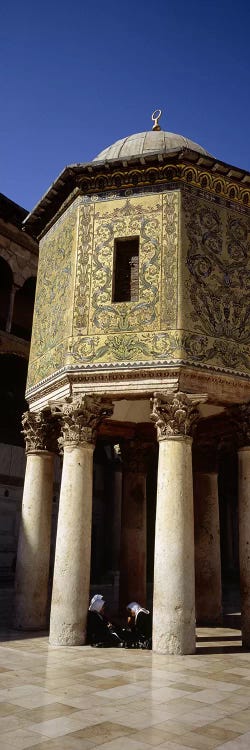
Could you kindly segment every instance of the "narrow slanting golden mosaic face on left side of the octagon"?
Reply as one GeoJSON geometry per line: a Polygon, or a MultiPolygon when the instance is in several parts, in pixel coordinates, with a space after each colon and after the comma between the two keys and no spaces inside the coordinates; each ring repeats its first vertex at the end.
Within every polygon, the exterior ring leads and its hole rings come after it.
{"type": "Polygon", "coordinates": [[[72,325],[76,230],[73,205],[40,243],[28,388],[64,363],[72,325]]]}

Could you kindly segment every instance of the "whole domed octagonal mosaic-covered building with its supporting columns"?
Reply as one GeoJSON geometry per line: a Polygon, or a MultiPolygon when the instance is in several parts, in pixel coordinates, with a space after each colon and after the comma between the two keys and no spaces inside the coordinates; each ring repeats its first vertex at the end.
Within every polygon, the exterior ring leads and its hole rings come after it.
{"type": "Polygon", "coordinates": [[[193,653],[196,619],[221,619],[238,510],[249,645],[249,186],[156,118],[66,167],[24,222],[40,250],[16,625],[46,621],[59,454],[51,643],[85,642],[95,451],[120,607],[146,602],[153,569],[153,648],[193,653]]]}

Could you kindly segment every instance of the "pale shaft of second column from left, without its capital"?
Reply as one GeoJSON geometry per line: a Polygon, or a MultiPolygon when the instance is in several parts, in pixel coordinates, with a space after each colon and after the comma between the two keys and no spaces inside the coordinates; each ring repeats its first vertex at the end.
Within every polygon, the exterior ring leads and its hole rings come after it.
{"type": "Polygon", "coordinates": [[[85,643],[89,603],[92,443],[64,446],[50,618],[50,643],[85,643]]]}

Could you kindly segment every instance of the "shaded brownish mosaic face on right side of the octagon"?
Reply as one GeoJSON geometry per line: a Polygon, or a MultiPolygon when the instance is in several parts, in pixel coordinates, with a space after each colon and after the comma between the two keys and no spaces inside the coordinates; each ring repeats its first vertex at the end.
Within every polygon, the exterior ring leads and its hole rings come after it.
{"type": "Polygon", "coordinates": [[[183,307],[196,361],[249,372],[250,218],[188,195],[182,206],[183,307]]]}

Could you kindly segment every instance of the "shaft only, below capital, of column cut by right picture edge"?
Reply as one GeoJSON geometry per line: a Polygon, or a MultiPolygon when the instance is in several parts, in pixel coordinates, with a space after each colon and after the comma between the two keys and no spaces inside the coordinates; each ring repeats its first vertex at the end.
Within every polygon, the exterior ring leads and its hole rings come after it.
{"type": "Polygon", "coordinates": [[[250,646],[250,445],[238,451],[242,645],[250,646]]]}

